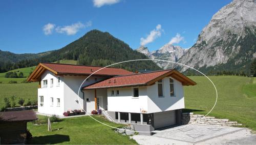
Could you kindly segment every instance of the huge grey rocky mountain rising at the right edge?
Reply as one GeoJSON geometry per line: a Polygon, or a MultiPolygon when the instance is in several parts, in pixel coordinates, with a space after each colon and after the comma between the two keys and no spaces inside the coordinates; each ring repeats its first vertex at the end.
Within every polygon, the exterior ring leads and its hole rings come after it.
{"type": "MultiPolygon", "coordinates": [[[[234,0],[212,16],[194,46],[178,60],[203,72],[248,73],[256,57],[256,3],[234,0]]],[[[177,67],[170,64],[167,68],[177,67]]],[[[180,67],[182,71],[187,70],[180,67]]]]}

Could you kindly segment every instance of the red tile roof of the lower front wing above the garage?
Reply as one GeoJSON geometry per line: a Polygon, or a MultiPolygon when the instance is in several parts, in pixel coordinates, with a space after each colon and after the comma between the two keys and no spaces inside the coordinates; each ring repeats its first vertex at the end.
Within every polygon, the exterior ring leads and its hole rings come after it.
{"type": "Polygon", "coordinates": [[[104,81],[86,86],[83,90],[99,89],[99,88],[114,88],[118,86],[131,86],[131,85],[146,85],[153,79],[156,79],[172,70],[156,71],[149,73],[139,73],[134,75],[117,76],[104,81]]]}

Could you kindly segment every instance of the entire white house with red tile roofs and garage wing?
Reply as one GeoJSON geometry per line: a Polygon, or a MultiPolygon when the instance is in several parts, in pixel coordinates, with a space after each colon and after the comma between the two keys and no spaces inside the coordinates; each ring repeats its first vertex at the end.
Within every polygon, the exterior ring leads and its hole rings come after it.
{"type": "Polygon", "coordinates": [[[40,63],[28,78],[38,81],[38,112],[62,115],[102,110],[111,121],[152,131],[179,124],[184,85],[196,82],[176,70],[133,73],[119,68],[40,63]],[[79,93],[79,95],[78,95],[79,93]],[[81,108],[82,107],[82,108],[81,108]]]}

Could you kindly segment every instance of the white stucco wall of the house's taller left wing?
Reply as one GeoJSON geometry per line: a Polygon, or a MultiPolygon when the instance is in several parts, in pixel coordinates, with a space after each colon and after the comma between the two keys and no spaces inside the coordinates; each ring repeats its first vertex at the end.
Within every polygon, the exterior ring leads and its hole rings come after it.
{"type": "MultiPolygon", "coordinates": [[[[97,78],[97,81],[100,81],[105,78],[102,76],[91,76],[89,78],[89,81],[85,81],[82,86],[95,83],[95,79],[94,79],[95,77],[97,78]]],[[[71,75],[56,76],[48,70],[45,71],[41,76],[41,80],[47,79],[48,86],[47,88],[38,89],[38,112],[63,115],[63,112],[66,112],[68,110],[82,109],[80,105],[83,107],[83,103],[84,103],[83,93],[79,90],[79,87],[82,81],[86,78],[87,76],[71,76],[71,75]],[[57,77],[60,77],[59,86],[56,86],[57,77]],[[53,78],[54,80],[53,87],[51,87],[51,78],[53,78]],[[77,96],[78,91],[79,91],[79,97],[77,96]],[[44,96],[43,106],[40,106],[39,96],[44,96]],[[53,100],[54,100],[53,106],[51,106],[51,100],[50,100],[51,97],[53,97],[53,100]],[[60,98],[59,107],[57,107],[57,98],[60,98]]],[[[43,82],[41,81],[41,87],[42,86],[43,86],[43,82]]]]}

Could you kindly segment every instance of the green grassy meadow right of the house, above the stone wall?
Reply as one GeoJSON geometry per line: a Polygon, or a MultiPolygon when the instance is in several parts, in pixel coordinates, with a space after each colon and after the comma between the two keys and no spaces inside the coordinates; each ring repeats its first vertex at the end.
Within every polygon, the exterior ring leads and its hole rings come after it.
{"type": "MultiPolygon", "coordinates": [[[[216,100],[214,86],[206,77],[192,76],[190,78],[198,84],[185,87],[185,106],[188,109],[201,110],[194,111],[196,113],[206,114],[216,100]]],[[[239,76],[211,76],[209,78],[215,83],[218,91],[217,105],[209,115],[238,121],[256,130],[256,97],[247,97],[242,91],[243,86],[251,82],[251,78],[239,76]]]]}

